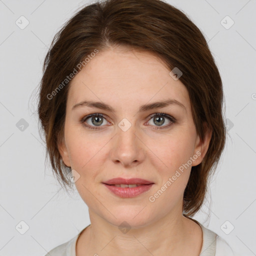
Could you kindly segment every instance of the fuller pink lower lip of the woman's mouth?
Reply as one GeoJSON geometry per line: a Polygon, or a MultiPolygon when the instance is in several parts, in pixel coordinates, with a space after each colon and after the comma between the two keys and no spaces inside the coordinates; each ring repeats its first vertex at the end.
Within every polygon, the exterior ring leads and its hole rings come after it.
{"type": "Polygon", "coordinates": [[[148,191],[153,185],[153,183],[147,184],[147,185],[135,186],[135,187],[118,187],[118,186],[108,185],[108,184],[104,184],[104,185],[114,194],[123,198],[129,198],[129,197],[134,197],[143,192],[148,191]]]}

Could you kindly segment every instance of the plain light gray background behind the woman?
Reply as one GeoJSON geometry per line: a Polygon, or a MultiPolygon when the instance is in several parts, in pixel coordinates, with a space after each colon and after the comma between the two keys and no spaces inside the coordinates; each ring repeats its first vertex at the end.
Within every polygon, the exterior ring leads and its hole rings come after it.
{"type": "MultiPolygon", "coordinates": [[[[0,256],[44,255],[89,224],[79,194],[66,194],[44,164],[35,113],[50,42],[87,2],[0,0],[0,256]],[[21,23],[21,15],[29,21],[23,29],[15,23],[21,23]],[[29,229],[21,234],[26,225],[29,229]]],[[[194,218],[242,255],[256,255],[256,1],[167,2],[183,10],[205,35],[222,77],[229,124],[207,203],[194,218]],[[226,15],[234,21],[231,27],[226,15]]]]}

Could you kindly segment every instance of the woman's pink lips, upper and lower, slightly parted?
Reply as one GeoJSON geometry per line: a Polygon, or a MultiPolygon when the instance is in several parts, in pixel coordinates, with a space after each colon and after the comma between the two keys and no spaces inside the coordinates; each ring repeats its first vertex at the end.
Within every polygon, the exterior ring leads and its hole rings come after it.
{"type": "Polygon", "coordinates": [[[102,182],[112,193],[122,198],[135,197],[143,192],[148,191],[153,182],[142,178],[112,178],[102,182]],[[136,187],[117,187],[115,184],[139,184],[136,187]]]}

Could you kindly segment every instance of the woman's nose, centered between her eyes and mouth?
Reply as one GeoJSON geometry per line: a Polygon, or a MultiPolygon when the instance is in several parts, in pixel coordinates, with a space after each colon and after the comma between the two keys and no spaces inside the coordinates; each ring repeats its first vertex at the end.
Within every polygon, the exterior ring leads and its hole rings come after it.
{"type": "MultiPolygon", "coordinates": [[[[121,126],[120,126],[121,127],[121,126]]],[[[117,127],[117,133],[113,137],[111,159],[124,167],[134,167],[145,158],[145,149],[139,133],[136,132],[135,124],[127,130],[117,127]]]]}

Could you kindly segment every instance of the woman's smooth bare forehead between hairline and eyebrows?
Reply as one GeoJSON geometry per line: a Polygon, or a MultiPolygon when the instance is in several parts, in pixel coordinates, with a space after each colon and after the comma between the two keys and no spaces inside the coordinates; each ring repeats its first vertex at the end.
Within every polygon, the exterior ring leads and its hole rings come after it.
{"type": "Polygon", "coordinates": [[[183,83],[174,80],[156,55],[109,48],[98,52],[71,80],[67,104],[82,100],[135,104],[173,98],[189,104],[183,83]]]}

